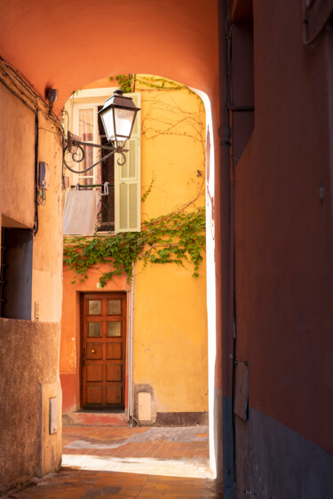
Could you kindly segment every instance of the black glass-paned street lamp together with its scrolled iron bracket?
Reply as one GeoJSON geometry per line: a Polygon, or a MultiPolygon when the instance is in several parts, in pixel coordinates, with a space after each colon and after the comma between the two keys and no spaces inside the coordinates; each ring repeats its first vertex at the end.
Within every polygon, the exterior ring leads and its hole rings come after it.
{"type": "Polygon", "coordinates": [[[113,146],[102,146],[101,144],[91,144],[91,142],[83,142],[81,137],[78,137],[68,131],[67,140],[64,147],[64,165],[73,173],[85,173],[86,171],[94,168],[99,162],[107,160],[108,157],[117,153],[121,154],[123,160],[118,160],[119,165],[123,165],[126,162],[126,157],[124,153],[128,152],[128,149],[124,149],[126,140],[131,138],[131,131],[133,129],[134,121],[136,115],[139,111],[139,107],[136,107],[133,99],[131,97],[125,97],[123,91],[116,90],[114,95],[109,97],[103,108],[99,111],[104,130],[106,132],[107,140],[113,142],[113,146]],[[95,162],[90,167],[85,170],[73,170],[67,164],[67,156],[74,162],[83,162],[84,159],[84,147],[98,147],[99,149],[106,149],[110,151],[107,155],[101,158],[98,162],[95,162]]]}

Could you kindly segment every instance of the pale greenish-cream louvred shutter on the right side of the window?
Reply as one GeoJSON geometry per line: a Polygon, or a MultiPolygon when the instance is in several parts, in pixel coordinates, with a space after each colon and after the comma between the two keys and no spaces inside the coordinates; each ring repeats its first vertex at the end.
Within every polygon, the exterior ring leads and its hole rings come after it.
{"type": "MultiPolygon", "coordinates": [[[[127,94],[141,107],[141,94],[127,94]]],[[[115,233],[141,230],[141,112],[134,123],[131,139],[126,142],[126,162],[119,166],[121,156],[115,154],[115,233]]]]}

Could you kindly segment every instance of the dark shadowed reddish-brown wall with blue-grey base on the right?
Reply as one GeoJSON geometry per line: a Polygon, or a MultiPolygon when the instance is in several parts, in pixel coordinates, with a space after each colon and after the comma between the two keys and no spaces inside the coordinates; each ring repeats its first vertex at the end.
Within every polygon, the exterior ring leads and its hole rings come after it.
{"type": "Polygon", "coordinates": [[[236,417],[236,479],[262,496],[329,496],[332,32],[306,47],[301,3],[253,4],[255,128],[235,170],[236,360],[249,363],[250,404],[248,423],[236,417]]]}

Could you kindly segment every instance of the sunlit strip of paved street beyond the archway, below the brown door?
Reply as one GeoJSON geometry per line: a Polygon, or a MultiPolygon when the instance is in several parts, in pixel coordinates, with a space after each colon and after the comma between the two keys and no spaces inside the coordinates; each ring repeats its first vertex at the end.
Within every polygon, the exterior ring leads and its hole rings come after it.
{"type": "Polygon", "coordinates": [[[67,427],[63,465],[87,470],[210,478],[208,427],[67,427]]]}

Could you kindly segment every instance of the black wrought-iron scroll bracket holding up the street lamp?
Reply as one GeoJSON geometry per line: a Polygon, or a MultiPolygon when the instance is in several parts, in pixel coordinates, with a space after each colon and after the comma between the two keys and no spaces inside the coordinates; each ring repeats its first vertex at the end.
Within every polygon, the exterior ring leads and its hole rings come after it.
{"type": "Polygon", "coordinates": [[[125,146],[125,141],[123,142],[115,142],[115,146],[102,146],[101,144],[93,144],[91,142],[83,142],[81,140],[81,137],[78,137],[77,135],[74,135],[74,133],[71,133],[68,131],[67,133],[67,140],[65,142],[65,147],[64,147],[64,155],[63,155],[63,162],[64,165],[66,166],[67,170],[72,171],[73,173],[79,173],[83,174],[86,171],[91,170],[95,166],[97,166],[100,162],[106,161],[107,158],[112,156],[113,154],[120,154],[120,158],[118,158],[117,163],[119,166],[123,166],[126,162],[126,156],[125,153],[128,153],[128,149],[124,149],[125,146]],[[86,168],[85,170],[73,170],[70,166],[68,166],[67,161],[68,156],[70,158],[71,162],[83,162],[85,152],[83,147],[98,147],[99,149],[105,149],[107,151],[110,151],[108,154],[106,154],[104,157],[100,158],[98,162],[94,162],[91,164],[90,167],[86,168]]]}

